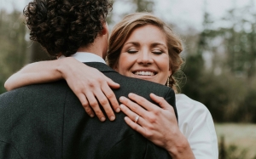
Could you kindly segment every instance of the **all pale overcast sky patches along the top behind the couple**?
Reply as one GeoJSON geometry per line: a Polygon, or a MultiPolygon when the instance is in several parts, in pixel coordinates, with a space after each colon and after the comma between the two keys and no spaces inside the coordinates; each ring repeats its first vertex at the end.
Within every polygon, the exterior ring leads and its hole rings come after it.
{"type": "MultiPolygon", "coordinates": [[[[15,8],[21,11],[29,1],[0,0],[0,9],[4,8],[11,12],[15,8]]],[[[255,0],[155,0],[154,14],[167,22],[177,24],[180,28],[193,27],[201,31],[205,5],[213,20],[218,20],[227,10],[244,7],[253,1],[255,0]]],[[[129,12],[131,6],[125,5],[127,2],[129,0],[116,0],[113,5],[113,14],[129,12]]],[[[115,20],[118,22],[120,17],[115,17],[115,20]]]]}

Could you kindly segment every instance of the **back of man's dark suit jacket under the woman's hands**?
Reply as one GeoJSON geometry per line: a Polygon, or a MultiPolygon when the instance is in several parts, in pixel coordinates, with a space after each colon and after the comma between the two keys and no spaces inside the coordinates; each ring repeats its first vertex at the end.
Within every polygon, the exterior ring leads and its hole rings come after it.
{"type": "MultiPolygon", "coordinates": [[[[175,105],[169,88],[123,77],[102,63],[87,65],[119,82],[117,98],[132,92],[149,99],[154,93],[175,105]]],[[[20,158],[171,158],[132,130],[123,113],[113,122],[90,118],[65,81],[15,89],[0,100],[0,157],[10,158],[3,156],[10,150],[20,158]]]]}

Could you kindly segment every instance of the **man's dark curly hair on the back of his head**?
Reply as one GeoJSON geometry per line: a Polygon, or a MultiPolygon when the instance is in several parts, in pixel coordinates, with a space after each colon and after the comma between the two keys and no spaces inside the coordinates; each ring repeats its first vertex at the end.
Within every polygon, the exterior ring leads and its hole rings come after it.
{"type": "Polygon", "coordinates": [[[108,0],[33,0],[23,10],[30,39],[56,56],[75,54],[102,31],[108,0]]]}

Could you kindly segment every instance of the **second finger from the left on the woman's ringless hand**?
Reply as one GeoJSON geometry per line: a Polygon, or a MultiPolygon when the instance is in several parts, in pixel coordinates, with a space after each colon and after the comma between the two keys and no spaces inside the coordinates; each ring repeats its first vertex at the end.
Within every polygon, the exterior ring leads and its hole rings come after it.
{"type": "Polygon", "coordinates": [[[102,113],[102,110],[100,109],[100,106],[94,94],[91,94],[91,92],[87,92],[87,94],[85,95],[87,97],[87,100],[89,101],[91,109],[95,112],[96,116],[100,119],[100,121],[104,122],[106,120],[106,117],[102,113]]]}

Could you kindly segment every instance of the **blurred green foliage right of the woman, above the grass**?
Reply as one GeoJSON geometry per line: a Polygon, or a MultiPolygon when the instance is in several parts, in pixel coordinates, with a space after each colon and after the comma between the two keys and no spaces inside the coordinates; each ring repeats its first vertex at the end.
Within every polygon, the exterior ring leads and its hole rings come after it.
{"type": "MultiPolygon", "coordinates": [[[[183,71],[187,83],[182,92],[207,105],[215,122],[256,122],[255,9],[253,5],[231,9],[218,21],[230,27],[214,28],[210,14],[205,13],[204,18],[204,31],[195,49],[186,50],[183,71]],[[210,60],[204,58],[206,55],[210,60]]],[[[191,43],[195,40],[187,40],[185,45],[191,43]]]]}

